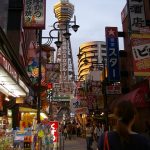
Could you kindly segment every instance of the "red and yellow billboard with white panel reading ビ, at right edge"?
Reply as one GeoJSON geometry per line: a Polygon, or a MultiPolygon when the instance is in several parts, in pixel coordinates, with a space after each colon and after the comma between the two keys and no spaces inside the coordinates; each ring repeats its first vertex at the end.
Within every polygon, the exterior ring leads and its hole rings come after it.
{"type": "Polygon", "coordinates": [[[135,76],[150,76],[150,34],[132,34],[132,53],[135,76]]]}

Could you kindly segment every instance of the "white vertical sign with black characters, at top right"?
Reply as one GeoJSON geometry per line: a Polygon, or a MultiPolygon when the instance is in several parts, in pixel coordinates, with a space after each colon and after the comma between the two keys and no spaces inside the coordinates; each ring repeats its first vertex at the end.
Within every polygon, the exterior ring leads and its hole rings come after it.
{"type": "Polygon", "coordinates": [[[146,26],[143,0],[128,0],[128,12],[130,17],[130,30],[139,31],[146,26]]]}

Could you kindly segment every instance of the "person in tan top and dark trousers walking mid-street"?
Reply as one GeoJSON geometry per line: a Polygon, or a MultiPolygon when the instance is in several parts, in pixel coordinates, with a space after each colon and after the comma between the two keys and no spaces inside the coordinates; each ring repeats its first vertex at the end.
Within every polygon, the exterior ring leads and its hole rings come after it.
{"type": "Polygon", "coordinates": [[[86,144],[87,144],[87,150],[92,150],[92,142],[93,142],[93,127],[90,125],[90,123],[87,123],[86,129],[86,144]]]}

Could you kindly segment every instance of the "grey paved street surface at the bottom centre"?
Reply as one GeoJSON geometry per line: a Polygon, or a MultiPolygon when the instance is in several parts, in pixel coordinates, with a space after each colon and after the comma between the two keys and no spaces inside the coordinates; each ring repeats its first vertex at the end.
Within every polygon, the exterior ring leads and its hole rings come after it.
{"type": "Polygon", "coordinates": [[[67,139],[64,143],[64,150],[86,150],[86,140],[84,138],[67,139]]]}

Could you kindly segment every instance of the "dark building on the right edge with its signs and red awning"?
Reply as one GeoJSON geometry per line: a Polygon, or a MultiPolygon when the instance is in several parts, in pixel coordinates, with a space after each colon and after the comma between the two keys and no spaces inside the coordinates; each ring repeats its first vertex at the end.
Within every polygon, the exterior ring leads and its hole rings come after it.
{"type": "Polygon", "coordinates": [[[127,0],[121,12],[124,50],[120,52],[121,100],[130,100],[138,109],[135,127],[145,132],[150,107],[150,2],[127,0]],[[140,8],[140,9],[137,9],[140,8]]]}

